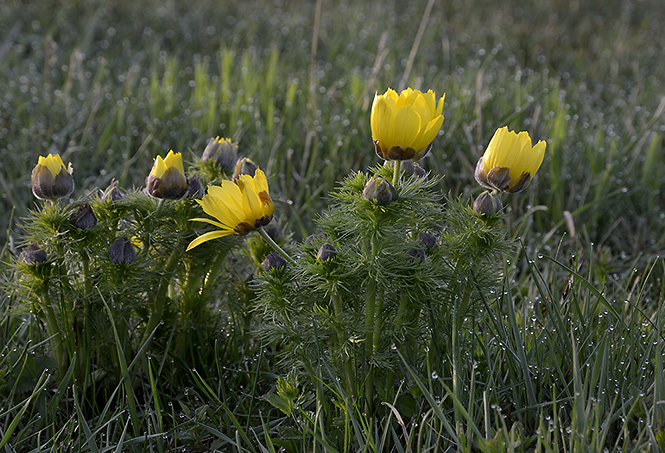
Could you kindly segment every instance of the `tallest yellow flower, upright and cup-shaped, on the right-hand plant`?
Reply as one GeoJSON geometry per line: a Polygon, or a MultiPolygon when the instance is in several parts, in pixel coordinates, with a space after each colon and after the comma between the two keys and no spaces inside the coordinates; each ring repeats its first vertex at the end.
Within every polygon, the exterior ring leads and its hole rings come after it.
{"type": "Polygon", "coordinates": [[[399,95],[391,88],[374,95],[372,138],[384,160],[419,160],[429,152],[443,124],[444,94],[439,102],[432,90],[407,88],[399,95]]]}

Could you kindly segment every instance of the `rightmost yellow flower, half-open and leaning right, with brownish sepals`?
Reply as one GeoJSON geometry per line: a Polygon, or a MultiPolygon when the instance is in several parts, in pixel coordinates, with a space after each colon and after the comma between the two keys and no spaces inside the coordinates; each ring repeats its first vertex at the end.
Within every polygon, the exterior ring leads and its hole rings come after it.
{"type": "Polygon", "coordinates": [[[476,181],[483,187],[516,193],[526,189],[545,157],[544,141],[531,146],[528,132],[509,131],[504,126],[494,133],[485,154],[476,165],[476,181]]]}

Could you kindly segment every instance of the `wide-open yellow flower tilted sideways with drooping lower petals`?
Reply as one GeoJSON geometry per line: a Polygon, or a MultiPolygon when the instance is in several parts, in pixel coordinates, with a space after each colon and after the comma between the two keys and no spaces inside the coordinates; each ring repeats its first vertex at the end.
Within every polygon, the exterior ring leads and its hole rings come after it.
{"type": "Polygon", "coordinates": [[[217,221],[198,218],[192,220],[210,223],[220,230],[197,237],[187,250],[211,239],[230,234],[247,234],[254,228],[267,225],[275,212],[268,192],[268,181],[261,169],[257,169],[253,177],[240,175],[237,183],[224,180],[221,186],[208,186],[208,193],[196,202],[206,214],[217,221]]]}

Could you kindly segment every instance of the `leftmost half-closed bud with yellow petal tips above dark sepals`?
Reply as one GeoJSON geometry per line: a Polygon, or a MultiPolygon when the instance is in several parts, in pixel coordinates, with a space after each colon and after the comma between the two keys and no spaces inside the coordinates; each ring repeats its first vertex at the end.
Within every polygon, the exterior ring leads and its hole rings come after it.
{"type": "Polygon", "coordinates": [[[32,170],[32,193],[41,200],[66,197],[74,191],[71,164],[65,167],[58,154],[39,156],[32,170]]]}

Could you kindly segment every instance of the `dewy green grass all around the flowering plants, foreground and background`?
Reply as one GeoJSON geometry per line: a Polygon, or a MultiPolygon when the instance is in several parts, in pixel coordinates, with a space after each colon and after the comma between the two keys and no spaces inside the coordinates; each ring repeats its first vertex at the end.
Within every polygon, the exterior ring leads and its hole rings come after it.
{"type": "MultiPolygon", "coordinates": [[[[323,2],[318,19],[316,2],[288,0],[27,3],[0,4],[4,281],[48,152],[73,163],[83,196],[112,178],[142,188],[157,154],[194,161],[231,137],[300,240],[339,181],[378,163],[369,110],[388,86],[446,93],[422,165],[452,198],[480,192],[473,168],[496,128],[548,146],[529,188],[504,198],[515,247],[461,334],[462,388],[432,349],[430,378],[397,363],[399,392],[372,418],[333,370],[289,375],[279,345],[247,341],[262,321],[245,317],[211,340],[205,368],[125,357],[116,332],[122,379],[95,401],[57,377],[46,332],[3,291],[0,450],[665,449],[659,0],[439,1],[429,15],[424,0],[323,2]],[[270,404],[278,376],[294,384],[290,415],[270,404]]],[[[253,296],[236,292],[240,307],[253,296]]]]}

